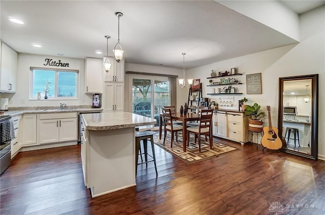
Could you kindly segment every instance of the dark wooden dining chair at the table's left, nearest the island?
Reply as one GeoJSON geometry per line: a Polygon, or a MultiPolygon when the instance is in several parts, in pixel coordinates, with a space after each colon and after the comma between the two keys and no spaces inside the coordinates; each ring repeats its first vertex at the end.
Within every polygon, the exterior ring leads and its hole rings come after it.
{"type": "Polygon", "coordinates": [[[167,131],[171,132],[171,148],[173,148],[174,133],[176,133],[176,141],[178,142],[177,132],[183,130],[182,125],[173,124],[172,111],[169,108],[163,108],[164,115],[164,145],[166,140],[167,131]]]}

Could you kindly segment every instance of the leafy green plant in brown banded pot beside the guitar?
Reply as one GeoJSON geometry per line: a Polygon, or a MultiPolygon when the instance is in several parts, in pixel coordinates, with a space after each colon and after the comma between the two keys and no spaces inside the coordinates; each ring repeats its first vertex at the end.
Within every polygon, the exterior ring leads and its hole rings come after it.
{"type": "Polygon", "coordinates": [[[264,120],[264,112],[259,112],[261,109],[261,105],[254,103],[251,105],[246,105],[245,114],[248,119],[248,130],[254,132],[262,132],[263,131],[263,120],[264,120]],[[259,112],[259,113],[258,113],[259,112]]]}

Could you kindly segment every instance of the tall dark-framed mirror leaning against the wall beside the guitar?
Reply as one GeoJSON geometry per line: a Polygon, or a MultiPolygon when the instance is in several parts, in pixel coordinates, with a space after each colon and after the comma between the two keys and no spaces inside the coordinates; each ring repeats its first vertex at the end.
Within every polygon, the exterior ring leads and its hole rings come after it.
{"type": "Polygon", "coordinates": [[[318,74],[279,78],[281,151],[317,160],[318,74]]]}

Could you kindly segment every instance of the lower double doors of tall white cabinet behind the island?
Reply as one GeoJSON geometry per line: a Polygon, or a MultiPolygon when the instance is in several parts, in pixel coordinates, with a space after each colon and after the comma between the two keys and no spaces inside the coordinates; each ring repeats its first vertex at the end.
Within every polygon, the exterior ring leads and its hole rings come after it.
{"type": "Polygon", "coordinates": [[[104,112],[124,110],[124,83],[105,83],[104,112]]]}

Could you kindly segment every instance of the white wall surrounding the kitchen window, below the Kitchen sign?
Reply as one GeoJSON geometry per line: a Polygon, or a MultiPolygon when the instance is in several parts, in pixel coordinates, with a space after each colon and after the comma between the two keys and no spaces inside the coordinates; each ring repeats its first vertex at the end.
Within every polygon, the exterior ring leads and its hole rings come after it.
{"type": "Polygon", "coordinates": [[[92,94],[85,94],[85,59],[56,57],[45,55],[33,55],[18,53],[18,71],[17,71],[17,89],[16,93],[4,93],[2,97],[9,97],[9,107],[19,106],[59,106],[60,102],[69,105],[91,105],[92,94]],[[61,62],[69,63],[69,67],[59,66],[44,66],[45,59],[50,58],[53,61],[61,60],[61,62]],[[79,70],[79,99],[65,99],[65,100],[29,100],[29,67],[46,67],[46,68],[64,68],[79,70]]]}

